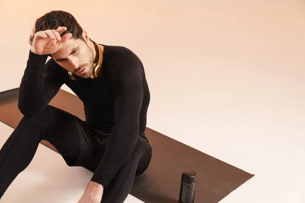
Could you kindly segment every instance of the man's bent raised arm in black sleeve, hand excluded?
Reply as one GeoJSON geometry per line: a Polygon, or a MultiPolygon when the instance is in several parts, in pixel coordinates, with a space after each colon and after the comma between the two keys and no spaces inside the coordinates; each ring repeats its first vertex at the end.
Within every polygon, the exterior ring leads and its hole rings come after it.
{"type": "Polygon", "coordinates": [[[56,62],[49,60],[46,63],[46,59],[47,55],[29,52],[18,97],[18,108],[23,115],[42,111],[64,83],[55,70],[56,62]]]}

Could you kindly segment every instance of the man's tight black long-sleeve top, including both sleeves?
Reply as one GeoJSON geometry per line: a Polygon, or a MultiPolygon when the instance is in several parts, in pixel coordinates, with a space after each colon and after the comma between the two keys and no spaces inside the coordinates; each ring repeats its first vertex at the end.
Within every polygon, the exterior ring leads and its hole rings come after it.
{"type": "Polygon", "coordinates": [[[53,58],[31,50],[19,89],[18,108],[23,115],[43,111],[66,84],[83,101],[86,122],[110,133],[104,156],[92,181],[106,188],[131,156],[139,133],[145,131],[150,100],[143,64],[129,49],[104,45],[102,75],[73,81],[53,58]]]}

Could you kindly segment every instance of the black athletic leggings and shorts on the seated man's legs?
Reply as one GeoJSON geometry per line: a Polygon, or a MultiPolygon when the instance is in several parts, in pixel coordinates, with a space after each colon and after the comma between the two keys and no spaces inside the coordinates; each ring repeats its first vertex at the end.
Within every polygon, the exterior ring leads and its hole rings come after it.
{"type": "MultiPolygon", "coordinates": [[[[78,117],[52,106],[36,116],[23,116],[0,150],[0,198],[32,161],[41,140],[51,143],[69,166],[83,166],[94,172],[108,137],[109,134],[96,131],[78,117]]],[[[140,134],[132,155],[104,189],[101,202],[124,202],[134,178],[147,169],[151,154],[148,140],[140,134]]]]}

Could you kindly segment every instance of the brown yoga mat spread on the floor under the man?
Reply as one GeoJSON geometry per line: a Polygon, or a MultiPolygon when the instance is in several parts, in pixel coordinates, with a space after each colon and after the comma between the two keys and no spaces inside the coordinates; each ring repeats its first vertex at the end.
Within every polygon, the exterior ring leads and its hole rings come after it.
{"type": "MultiPolygon", "coordinates": [[[[0,93],[0,121],[15,128],[22,114],[18,110],[19,88],[0,93]]],[[[50,105],[63,109],[84,120],[81,100],[62,89],[50,105]]],[[[134,181],[131,195],[147,203],[177,203],[183,171],[197,173],[196,203],[219,202],[254,175],[219,159],[146,128],[146,136],[153,148],[148,169],[134,181]]],[[[56,151],[46,141],[42,144],[56,151]]]]}

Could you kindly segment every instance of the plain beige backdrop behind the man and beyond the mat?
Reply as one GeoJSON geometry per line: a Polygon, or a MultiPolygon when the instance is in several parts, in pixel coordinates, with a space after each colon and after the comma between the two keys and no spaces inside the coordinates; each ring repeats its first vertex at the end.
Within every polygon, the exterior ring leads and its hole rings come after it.
{"type": "Polygon", "coordinates": [[[0,91],[19,87],[35,20],[51,10],[140,57],[148,127],[256,174],[223,202],[303,202],[304,1],[1,0],[0,91]]]}

